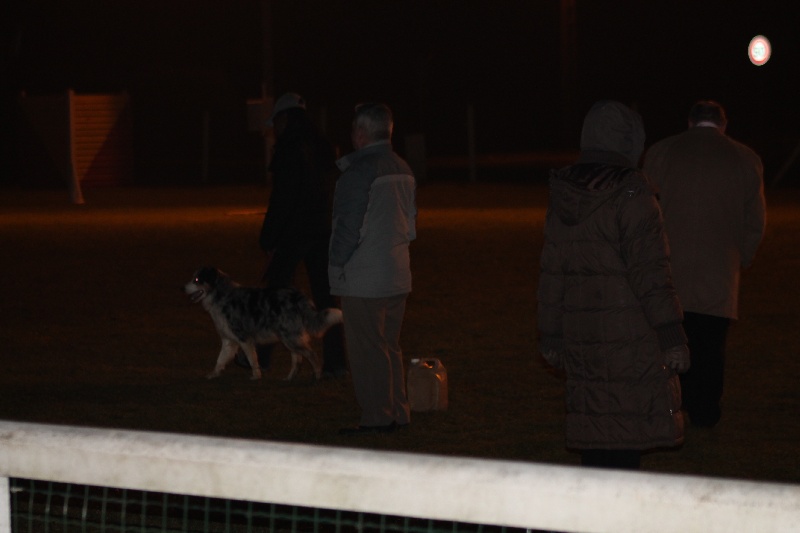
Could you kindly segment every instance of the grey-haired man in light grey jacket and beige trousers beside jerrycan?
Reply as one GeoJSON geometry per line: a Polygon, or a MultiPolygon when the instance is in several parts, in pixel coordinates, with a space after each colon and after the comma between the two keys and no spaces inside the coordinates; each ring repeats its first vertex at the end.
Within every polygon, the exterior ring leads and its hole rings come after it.
{"type": "Polygon", "coordinates": [[[410,422],[400,331],[411,292],[416,181],[393,150],[392,112],[356,107],[355,152],[341,158],[328,276],[341,297],[350,373],[361,419],[342,434],[388,433],[410,422]]]}

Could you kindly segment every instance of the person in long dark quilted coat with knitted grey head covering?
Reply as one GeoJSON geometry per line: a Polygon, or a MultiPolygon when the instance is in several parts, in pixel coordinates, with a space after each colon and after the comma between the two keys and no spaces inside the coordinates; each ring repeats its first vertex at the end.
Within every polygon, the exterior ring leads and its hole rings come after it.
{"type": "Polygon", "coordinates": [[[641,450],[683,441],[689,355],[643,148],[639,115],[601,101],[576,164],[550,177],[539,347],[566,374],[566,444],[589,466],[638,468],[641,450]]]}

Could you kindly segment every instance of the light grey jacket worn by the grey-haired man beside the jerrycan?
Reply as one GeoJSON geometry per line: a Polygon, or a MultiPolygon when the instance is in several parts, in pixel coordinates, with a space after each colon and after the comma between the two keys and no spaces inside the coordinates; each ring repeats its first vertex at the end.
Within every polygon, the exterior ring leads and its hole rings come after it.
{"type": "Polygon", "coordinates": [[[411,292],[409,244],[416,238],[416,181],[388,141],[339,159],[328,277],[338,296],[411,292]]]}

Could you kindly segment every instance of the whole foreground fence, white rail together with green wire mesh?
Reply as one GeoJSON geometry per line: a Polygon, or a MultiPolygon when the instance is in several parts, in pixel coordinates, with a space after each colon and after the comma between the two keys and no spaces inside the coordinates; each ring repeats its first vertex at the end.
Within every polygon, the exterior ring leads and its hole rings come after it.
{"type": "Polygon", "coordinates": [[[0,421],[0,533],[777,533],[798,518],[792,484],[0,421]]]}

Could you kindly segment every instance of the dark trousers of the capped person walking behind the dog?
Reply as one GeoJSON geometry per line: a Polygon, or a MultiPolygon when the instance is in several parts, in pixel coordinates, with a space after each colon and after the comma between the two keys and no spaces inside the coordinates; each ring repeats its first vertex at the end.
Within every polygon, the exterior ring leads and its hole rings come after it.
{"type": "MultiPolygon", "coordinates": [[[[311,295],[317,309],[340,307],[338,299],[331,295],[328,282],[328,240],[319,239],[291,247],[280,247],[275,251],[263,281],[267,287],[282,288],[294,283],[297,267],[303,263],[308,274],[311,295]]],[[[258,362],[269,365],[274,344],[258,347],[258,362]]],[[[322,339],[322,371],[339,373],[347,369],[344,351],[344,332],[341,324],[331,327],[322,339]]]]}

